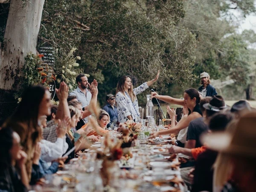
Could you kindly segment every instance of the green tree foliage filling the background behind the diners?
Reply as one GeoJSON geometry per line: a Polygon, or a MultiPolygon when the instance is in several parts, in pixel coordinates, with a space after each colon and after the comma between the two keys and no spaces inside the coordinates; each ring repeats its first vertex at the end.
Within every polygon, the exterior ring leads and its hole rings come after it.
{"type": "MultiPolygon", "coordinates": [[[[76,62],[67,55],[77,47],[80,69],[90,74],[91,81],[99,81],[101,104],[107,93],[115,93],[120,76],[131,75],[136,87],[153,79],[158,69],[160,79],[153,88],[177,96],[185,87],[198,87],[203,71],[213,79],[229,75],[245,84],[246,44],[230,37],[234,26],[222,15],[230,14],[230,9],[244,15],[255,12],[251,2],[46,0],[40,44],[56,49],[56,69],[61,72],[65,63],[76,62]]],[[[73,67],[65,76],[79,72],[73,67]]],[[[65,81],[75,87],[73,77],[65,81]]],[[[145,101],[144,97],[138,99],[145,101]]]]}

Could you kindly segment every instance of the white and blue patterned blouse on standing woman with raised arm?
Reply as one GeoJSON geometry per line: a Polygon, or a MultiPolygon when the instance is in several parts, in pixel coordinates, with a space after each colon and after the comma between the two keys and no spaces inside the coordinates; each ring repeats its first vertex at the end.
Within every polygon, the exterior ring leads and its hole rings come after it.
{"type": "MultiPolygon", "coordinates": [[[[148,84],[145,82],[139,87],[134,88],[134,94],[138,95],[148,88],[148,84]]],[[[116,109],[117,109],[117,120],[119,122],[126,122],[127,116],[131,115],[132,119],[139,117],[139,105],[137,97],[134,102],[132,102],[130,96],[127,92],[116,93],[116,109]]]]}

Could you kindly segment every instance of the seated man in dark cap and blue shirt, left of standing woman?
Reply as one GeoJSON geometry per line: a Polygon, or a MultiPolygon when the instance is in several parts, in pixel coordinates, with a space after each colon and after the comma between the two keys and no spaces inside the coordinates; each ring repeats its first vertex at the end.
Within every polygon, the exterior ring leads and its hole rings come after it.
{"type": "Polygon", "coordinates": [[[110,122],[107,125],[107,127],[109,128],[111,126],[111,124],[113,124],[113,126],[115,126],[116,121],[117,121],[117,110],[116,110],[116,105],[115,105],[116,104],[115,96],[112,94],[108,94],[106,96],[106,101],[108,102],[108,104],[105,105],[102,109],[107,111],[110,116],[110,122]]]}

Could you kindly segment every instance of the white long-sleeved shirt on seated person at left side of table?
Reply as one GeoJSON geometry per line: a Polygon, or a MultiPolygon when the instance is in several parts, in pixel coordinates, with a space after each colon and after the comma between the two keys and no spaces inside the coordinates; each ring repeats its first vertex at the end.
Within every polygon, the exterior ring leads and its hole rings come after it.
{"type": "Polygon", "coordinates": [[[64,138],[57,138],[55,143],[47,140],[41,140],[41,158],[46,162],[52,162],[52,160],[61,157],[68,148],[66,143],[66,136],[64,138]]]}

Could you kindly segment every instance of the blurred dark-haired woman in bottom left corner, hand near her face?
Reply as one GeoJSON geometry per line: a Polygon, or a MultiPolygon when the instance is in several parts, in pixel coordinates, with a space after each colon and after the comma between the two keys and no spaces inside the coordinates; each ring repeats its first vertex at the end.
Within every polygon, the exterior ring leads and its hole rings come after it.
{"type": "Polygon", "coordinates": [[[29,186],[26,173],[26,153],[21,150],[20,137],[11,128],[0,129],[0,191],[24,192],[29,186]],[[16,169],[18,167],[18,176],[16,169]]]}

